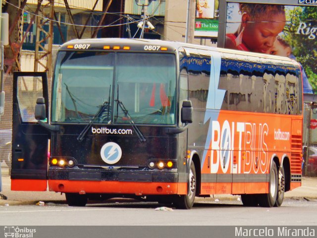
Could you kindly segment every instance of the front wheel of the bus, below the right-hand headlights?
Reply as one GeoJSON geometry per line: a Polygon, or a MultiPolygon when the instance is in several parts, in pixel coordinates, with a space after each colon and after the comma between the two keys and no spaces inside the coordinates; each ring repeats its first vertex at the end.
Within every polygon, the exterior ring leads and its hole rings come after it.
{"type": "Polygon", "coordinates": [[[196,170],[194,162],[191,162],[190,172],[188,174],[188,189],[186,195],[177,195],[174,200],[174,205],[177,209],[191,209],[194,205],[196,195],[196,170]]]}

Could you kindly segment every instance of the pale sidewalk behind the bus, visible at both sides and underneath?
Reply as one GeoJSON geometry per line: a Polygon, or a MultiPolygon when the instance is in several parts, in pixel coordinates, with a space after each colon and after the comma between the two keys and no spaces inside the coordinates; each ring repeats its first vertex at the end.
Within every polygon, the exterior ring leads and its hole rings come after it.
{"type": "MultiPolygon", "coordinates": [[[[0,192],[7,197],[7,200],[0,199],[0,206],[11,205],[32,205],[39,201],[52,203],[65,203],[65,194],[56,192],[32,192],[32,191],[11,191],[11,180],[9,176],[2,176],[2,191],[0,192]]],[[[285,193],[285,198],[290,199],[317,199],[317,178],[306,177],[302,179],[302,186],[285,193]]],[[[214,195],[211,198],[196,197],[196,201],[219,201],[237,200],[233,195],[214,195]]]]}

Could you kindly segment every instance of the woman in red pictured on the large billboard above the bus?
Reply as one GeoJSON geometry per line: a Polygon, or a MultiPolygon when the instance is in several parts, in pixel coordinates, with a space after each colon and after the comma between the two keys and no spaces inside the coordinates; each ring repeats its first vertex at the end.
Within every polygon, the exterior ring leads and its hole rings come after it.
{"type": "Polygon", "coordinates": [[[266,53],[285,26],[284,5],[240,3],[241,24],[226,34],[225,47],[266,53]]]}

